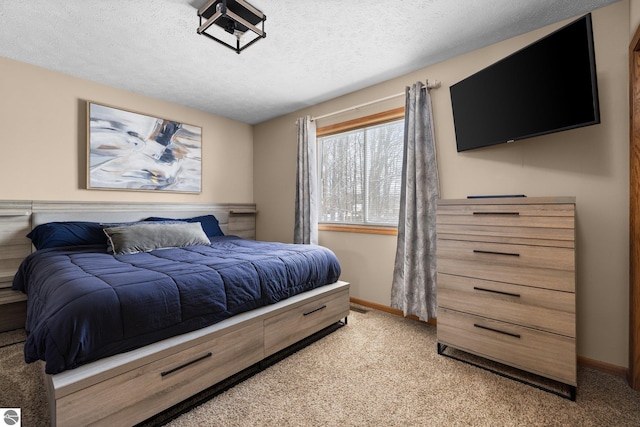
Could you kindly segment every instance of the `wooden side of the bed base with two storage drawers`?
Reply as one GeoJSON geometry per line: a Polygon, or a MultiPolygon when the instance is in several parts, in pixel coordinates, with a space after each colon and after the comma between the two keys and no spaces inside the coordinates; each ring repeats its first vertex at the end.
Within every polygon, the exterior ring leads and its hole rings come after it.
{"type": "Polygon", "coordinates": [[[260,362],[273,348],[280,350],[348,314],[349,284],[338,281],[203,329],[46,375],[52,425],[137,424],[260,362]],[[284,331],[278,331],[280,327],[284,331]]]}

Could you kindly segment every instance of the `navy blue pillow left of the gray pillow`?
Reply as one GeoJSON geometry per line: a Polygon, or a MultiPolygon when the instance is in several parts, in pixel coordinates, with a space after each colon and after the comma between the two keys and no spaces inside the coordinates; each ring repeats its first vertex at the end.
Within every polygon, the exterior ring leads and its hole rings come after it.
{"type": "Polygon", "coordinates": [[[107,244],[102,226],[86,221],[47,222],[34,228],[27,237],[36,249],[107,244]]]}

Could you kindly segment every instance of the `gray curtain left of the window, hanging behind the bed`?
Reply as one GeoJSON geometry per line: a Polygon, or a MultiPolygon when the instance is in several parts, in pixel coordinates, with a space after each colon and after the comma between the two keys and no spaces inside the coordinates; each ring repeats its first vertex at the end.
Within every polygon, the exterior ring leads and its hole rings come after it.
{"type": "Polygon", "coordinates": [[[301,117],[298,126],[298,168],[296,172],[296,212],[293,243],[318,244],[318,204],[316,186],[316,123],[301,117]]]}

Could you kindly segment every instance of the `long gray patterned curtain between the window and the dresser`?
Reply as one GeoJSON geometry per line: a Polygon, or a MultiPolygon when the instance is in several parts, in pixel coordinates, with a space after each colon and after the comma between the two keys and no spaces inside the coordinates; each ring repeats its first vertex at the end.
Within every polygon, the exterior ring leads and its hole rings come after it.
{"type": "Polygon", "coordinates": [[[436,203],[440,197],[429,90],[406,89],[398,246],[391,306],[421,320],[436,317],[436,203]]]}

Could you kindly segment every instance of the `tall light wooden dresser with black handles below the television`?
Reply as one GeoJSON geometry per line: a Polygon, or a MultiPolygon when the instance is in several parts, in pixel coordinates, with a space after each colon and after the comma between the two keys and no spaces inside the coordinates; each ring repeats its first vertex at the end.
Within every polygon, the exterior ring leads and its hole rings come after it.
{"type": "Polygon", "coordinates": [[[437,236],[438,352],[559,381],[575,400],[575,198],[441,200],[437,236]]]}

